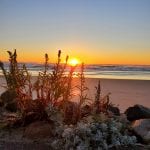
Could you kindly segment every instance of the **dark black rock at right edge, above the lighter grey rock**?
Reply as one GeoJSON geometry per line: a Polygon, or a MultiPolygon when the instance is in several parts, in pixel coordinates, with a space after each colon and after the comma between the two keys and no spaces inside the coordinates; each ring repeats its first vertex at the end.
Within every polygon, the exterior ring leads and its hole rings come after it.
{"type": "Polygon", "coordinates": [[[134,121],[138,119],[150,119],[150,108],[144,107],[142,105],[134,105],[129,107],[125,114],[129,121],[134,121]]]}

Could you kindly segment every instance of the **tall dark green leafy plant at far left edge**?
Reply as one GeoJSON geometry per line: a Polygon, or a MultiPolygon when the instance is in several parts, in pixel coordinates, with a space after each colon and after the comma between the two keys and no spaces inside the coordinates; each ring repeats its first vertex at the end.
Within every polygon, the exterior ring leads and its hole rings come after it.
{"type": "Polygon", "coordinates": [[[25,109],[26,99],[32,99],[31,75],[25,65],[19,66],[17,62],[17,51],[7,51],[9,54],[9,70],[4,68],[3,63],[0,67],[3,71],[7,83],[7,89],[13,91],[17,95],[17,104],[19,110],[25,109]]]}

